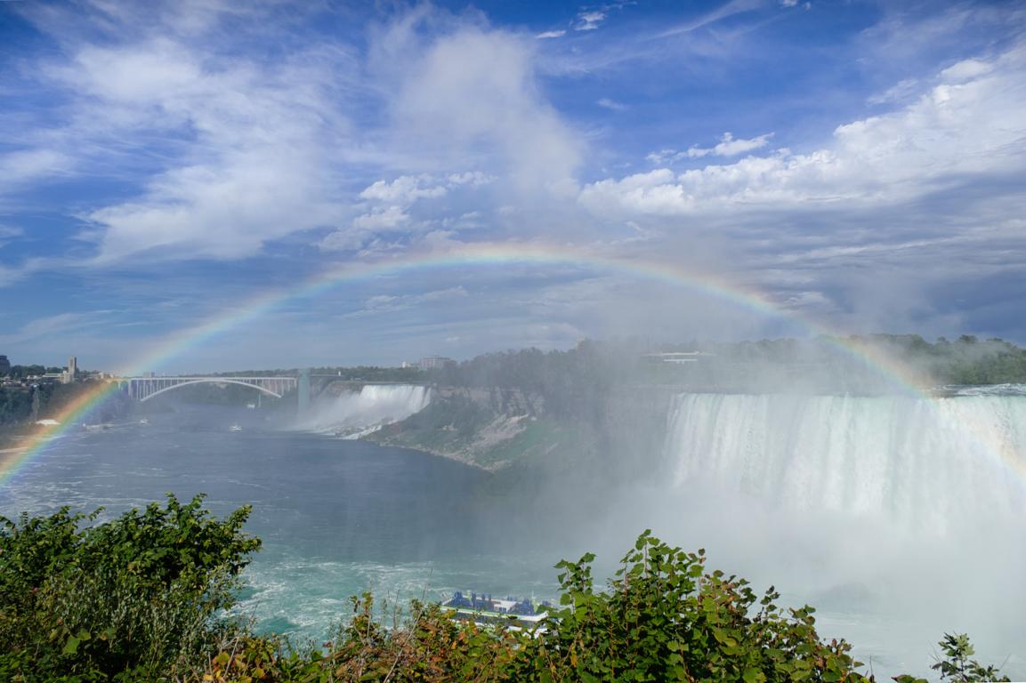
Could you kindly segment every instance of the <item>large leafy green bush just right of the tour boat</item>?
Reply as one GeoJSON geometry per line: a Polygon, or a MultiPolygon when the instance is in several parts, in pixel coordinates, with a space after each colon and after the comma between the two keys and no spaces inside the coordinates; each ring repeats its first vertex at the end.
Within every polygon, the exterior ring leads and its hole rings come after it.
{"type": "Polygon", "coordinates": [[[530,681],[865,681],[843,641],[823,642],[813,608],[782,610],[770,591],[705,571],[705,555],[645,531],[609,591],[596,592],[586,555],[561,562],[563,608],[524,644],[530,681]]]}

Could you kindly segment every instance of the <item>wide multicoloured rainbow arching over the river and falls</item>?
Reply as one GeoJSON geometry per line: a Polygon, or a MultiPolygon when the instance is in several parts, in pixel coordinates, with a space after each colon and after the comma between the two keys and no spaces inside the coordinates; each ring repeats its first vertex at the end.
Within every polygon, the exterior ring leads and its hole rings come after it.
{"type": "MultiPolygon", "coordinates": [[[[119,368],[117,374],[131,376],[159,366],[227,330],[267,315],[285,303],[313,297],[344,283],[416,271],[514,265],[570,266],[631,275],[677,287],[682,286],[750,310],[760,316],[792,320],[812,334],[824,335],[843,353],[890,380],[900,392],[914,397],[923,396],[918,389],[919,378],[910,374],[901,364],[870,348],[835,336],[825,327],[775,305],[762,293],[729,282],[714,273],[685,270],[673,264],[588,251],[573,246],[526,242],[477,243],[444,252],[424,252],[374,264],[346,265],[328,269],[298,286],[263,292],[233,310],[222,312],[194,327],[183,329],[125,367],[119,368]]],[[[116,383],[97,386],[55,415],[54,419],[60,423],[58,425],[43,427],[34,433],[25,448],[6,453],[0,452],[0,486],[10,481],[22,468],[44,452],[47,444],[53,439],[87,418],[93,409],[117,390],[116,383]]],[[[1016,457],[1003,456],[1002,459],[1014,461],[1017,466],[1019,463],[1016,457]]],[[[1026,475],[1026,471],[1023,474],[1026,475]]]]}

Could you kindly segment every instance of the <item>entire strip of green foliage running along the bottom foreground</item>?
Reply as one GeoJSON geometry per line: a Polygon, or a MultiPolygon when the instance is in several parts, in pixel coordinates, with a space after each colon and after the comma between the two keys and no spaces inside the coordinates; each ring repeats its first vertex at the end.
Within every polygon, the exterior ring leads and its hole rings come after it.
{"type": "MultiPolygon", "coordinates": [[[[95,515],[0,518],[0,681],[840,681],[872,680],[814,610],[707,571],[705,556],[643,533],[606,590],[594,557],[560,562],[560,606],[536,633],[456,622],[413,602],[376,617],[369,595],[323,647],[258,635],[228,617],[260,541],[197,497],[168,497],[104,524],[95,515]]],[[[945,681],[995,680],[964,636],[946,636],[945,681]]],[[[917,683],[913,677],[898,677],[917,683]]],[[[1008,679],[1003,679],[1008,680],[1008,679]]]]}

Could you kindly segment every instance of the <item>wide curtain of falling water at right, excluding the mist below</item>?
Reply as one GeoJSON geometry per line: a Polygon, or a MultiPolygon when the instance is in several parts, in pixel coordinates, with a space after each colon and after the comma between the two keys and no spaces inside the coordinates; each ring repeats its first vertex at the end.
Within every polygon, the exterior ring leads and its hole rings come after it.
{"type": "Polygon", "coordinates": [[[677,486],[944,533],[1026,512],[1026,398],[685,394],[667,455],[677,486]]]}

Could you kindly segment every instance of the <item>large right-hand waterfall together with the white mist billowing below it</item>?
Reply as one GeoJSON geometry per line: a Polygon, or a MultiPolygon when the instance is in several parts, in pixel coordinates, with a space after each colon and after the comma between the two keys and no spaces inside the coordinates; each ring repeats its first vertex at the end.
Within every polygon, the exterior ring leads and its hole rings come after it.
{"type": "Polygon", "coordinates": [[[824,607],[878,674],[945,631],[1026,673],[1022,391],[684,394],[667,428],[670,476],[635,500],[664,535],[824,607]]]}

